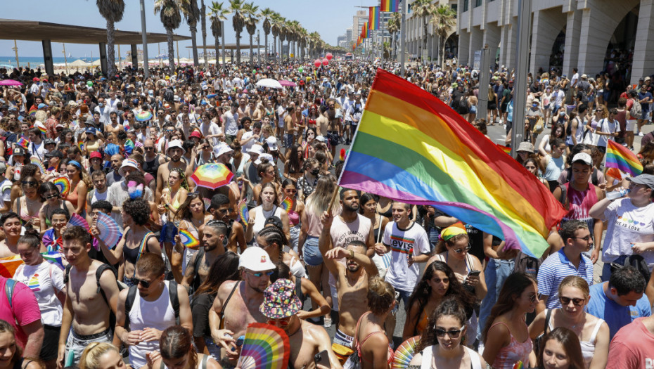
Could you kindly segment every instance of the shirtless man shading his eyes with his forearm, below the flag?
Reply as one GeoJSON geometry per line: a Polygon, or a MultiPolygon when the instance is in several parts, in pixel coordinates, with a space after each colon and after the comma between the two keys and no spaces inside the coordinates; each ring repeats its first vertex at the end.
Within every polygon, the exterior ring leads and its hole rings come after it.
{"type": "Polygon", "coordinates": [[[347,248],[334,247],[329,250],[329,231],[333,216],[328,213],[323,214],[321,221],[323,231],[318,241],[318,247],[323,255],[325,266],[336,279],[338,293],[338,327],[334,344],[340,344],[353,350],[357,321],[368,310],[365,299],[368,292],[368,278],[377,276],[379,271],[373,261],[366,256],[367,248],[364,242],[352,240],[347,244],[347,248]],[[343,258],[347,259],[347,266],[336,261],[343,258]]]}

